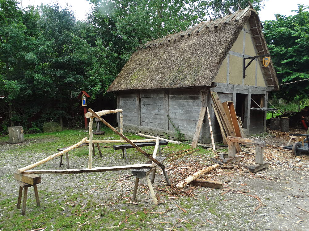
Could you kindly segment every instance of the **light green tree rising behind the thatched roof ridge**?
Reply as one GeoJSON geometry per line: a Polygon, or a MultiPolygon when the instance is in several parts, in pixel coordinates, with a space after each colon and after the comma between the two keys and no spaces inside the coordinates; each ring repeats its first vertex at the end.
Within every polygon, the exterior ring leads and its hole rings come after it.
{"type": "MultiPolygon", "coordinates": [[[[228,14],[228,9],[237,10],[237,4],[248,6],[247,0],[88,0],[95,4],[96,11],[108,16],[116,24],[114,34],[127,42],[124,58],[129,59],[133,48],[157,34],[173,33],[185,26],[196,24],[206,16],[228,14]]],[[[261,0],[252,1],[260,10],[261,0]]]]}

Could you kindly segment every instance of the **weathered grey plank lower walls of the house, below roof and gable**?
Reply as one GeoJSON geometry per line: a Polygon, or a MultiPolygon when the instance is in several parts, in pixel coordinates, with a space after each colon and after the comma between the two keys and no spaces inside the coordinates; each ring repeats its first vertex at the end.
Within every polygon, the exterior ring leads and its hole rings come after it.
{"type": "MultiPolygon", "coordinates": [[[[261,95],[268,99],[268,91],[273,87],[256,87],[247,85],[214,83],[216,87],[185,88],[185,89],[163,89],[163,90],[140,90],[117,92],[117,109],[123,109],[125,129],[148,132],[155,135],[175,137],[173,128],[168,117],[176,127],[184,133],[186,140],[192,140],[201,107],[208,106],[210,109],[210,120],[214,130],[215,141],[222,140],[220,128],[214,110],[211,106],[212,99],[210,91],[218,93],[220,100],[233,101],[236,103],[236,94],[247,94],[245,102],[244,132],[258,133],[265,131],[266,112],[250,110],[251,95],[261,95]],[[248,103],[249,102],[249,103],[248,103]],[[255,127],[250,126],[250,118],[256,113],[263,113],[263,116],[253,118],[255,127]],[[264,121],[263,121],[264,120],[264,121]]],[[[264,98],[264,97],[263,97],[264,98]]],[[[264,99],[263,106],[267,107],[267,100],[264,99]]],[[[118,115],[118,124],[120,115],[118,115]]],[[[204,118],[201,134],[198,142],[210,143],[210,130],[208,118],[204,118]]]]}

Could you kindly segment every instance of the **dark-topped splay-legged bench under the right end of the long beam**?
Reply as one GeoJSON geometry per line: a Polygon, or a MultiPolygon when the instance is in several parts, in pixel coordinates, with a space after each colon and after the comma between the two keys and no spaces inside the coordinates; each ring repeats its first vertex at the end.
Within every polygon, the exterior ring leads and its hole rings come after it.
{"type": "MultiPolygon", "coordinates": [[[[163,161],[165,159],[166,159],[165,156],[157,156],[156,157],[156,160],[158,160],[160,163],[163,163],[163,161]]],[[[146,164],[151,164],[151,160],[147,161],[146,164]]],[[[155,192],[154,192],[154,189],[152,187],[152,184],[155,182],[155,172],[157,170],[157,167],[158,167],[158,165],[155,165],[155,167],[152,167],[152,168],[142,168],[142,169],[133,169],[132,170],[133,176],[136,177],[135,178],[135,184],[134,184],[132,200],[136,199],[136,193],[137,193],[137,189],[138,189],[139,179],[142,179],[142,178],[146,177],[147,184],[148,184],[148,187],[149,187],[149,190],[150,190],[150,193],[151,193],[151,197],[154,200],[155,204],[158,204],[157,197],[155,196],[155,192]],[[151,181],[150,181],[150,178],[148,176],[150,172],[152,172],[151,181]]],[[[163,174],[164,174],[164,177],[165,177],[165,180],[166,180],[167,184],[171,185],[165,169],[163,169],[163,174]]]]}

